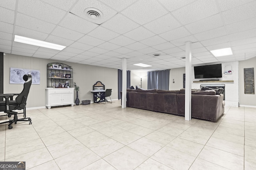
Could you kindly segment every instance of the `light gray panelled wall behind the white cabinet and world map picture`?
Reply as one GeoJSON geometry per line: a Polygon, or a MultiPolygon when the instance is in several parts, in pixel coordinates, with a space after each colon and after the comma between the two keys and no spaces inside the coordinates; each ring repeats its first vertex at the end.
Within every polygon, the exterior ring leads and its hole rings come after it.
{"type": "MultiPolygon", "coordinates": [[[[73,82],[76,82],[80,87],[78,92],[80,102],[82,100],[93,101],[90,90],[97,81],[101,81],[105,88],[112,88],[112,99],[118,98],[117,69],[12,54],[4,56],[4,93],[19,93],[23,89],[23,84],[10,84],[10,67],[40,70],[40,84],[32,84],[27,100],[27,108],[44,107],[46,104],[46,65],[54,62],[72,66],[73,82]]],[[[74,93],[74,100],[75,98],[74,93]]]]}

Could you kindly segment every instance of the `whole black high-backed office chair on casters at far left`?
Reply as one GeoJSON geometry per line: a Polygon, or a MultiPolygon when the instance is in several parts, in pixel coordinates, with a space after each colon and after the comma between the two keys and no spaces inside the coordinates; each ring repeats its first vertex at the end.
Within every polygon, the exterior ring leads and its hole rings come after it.
{"type": "MultiPolygon", "coordinates": [[[[12,123],[16,124],[17,121],[29,121],[29,124],[32,124],[30,117],[26,117],[26,101],[28,98],[30,86],[32,84],[31,74],[25,74],[23,76],[23,80],[26,82],[24,83],[24,88],[20,94],[0,94],[0,97],[5,98],[5,101],[0,102],[0,111],[4,111],[4,113],[7,113],[6,115],[2,115],[2,116],[8,115],[8,117],[12,117],[12,115],[14,115],[13,119],[10,119],[9,121],[2,122],[2,123],[9,123],[9,125],[8,125],[9,129],[12,129],[12,126],[11,126],[12,123]],[[18,96],[16,97],[15,100],[13,100],[13,96],[16,96],[16,95],[18,95],[18,96]],[[22,114],[22,113],[18,113],[14,110],[22,110],[22,109],[23,109],[24,118],[18,119],[17,114],[22,114]]],[[[0,123],[0,124],[2,124],[2,123],[0,123]]]]}

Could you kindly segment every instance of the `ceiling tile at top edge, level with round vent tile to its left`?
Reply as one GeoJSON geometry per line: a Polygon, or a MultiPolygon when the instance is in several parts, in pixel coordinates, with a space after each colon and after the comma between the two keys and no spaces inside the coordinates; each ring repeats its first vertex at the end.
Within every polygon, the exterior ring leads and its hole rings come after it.
{"type": "Polygon", "coordinates": [[[167,14],[168,11],[156,0],[139,0],[123,10],[121,13],[143,25],[167,14]]]}

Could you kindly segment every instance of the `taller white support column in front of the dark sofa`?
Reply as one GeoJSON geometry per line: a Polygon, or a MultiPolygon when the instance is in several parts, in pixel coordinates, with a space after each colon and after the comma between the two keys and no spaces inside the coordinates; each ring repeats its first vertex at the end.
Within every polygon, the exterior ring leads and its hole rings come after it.
{"type": "Polygon", "coordinates": [[[186,42],[185,120],[191,120],[191,41],[186,42]]]}

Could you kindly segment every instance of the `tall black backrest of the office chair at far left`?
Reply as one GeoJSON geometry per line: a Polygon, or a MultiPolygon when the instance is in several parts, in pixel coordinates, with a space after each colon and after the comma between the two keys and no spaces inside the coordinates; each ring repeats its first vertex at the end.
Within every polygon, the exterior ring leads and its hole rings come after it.
{"type": "Polygon", "coordinates": [[[23,87],[23,90],[22,92],[16,97],[16,102],[19,104],[19,106],[17,106],[16,109],[24,109],[26,107],[26,101],[27,101],[27,98],[28,98],[28,92],[30,90],[30,86],[32,84],[32,76],[31,74],[25,74],[23,76],[23,80],[26,81],[24,83],[24,87],[23,87]]]}

